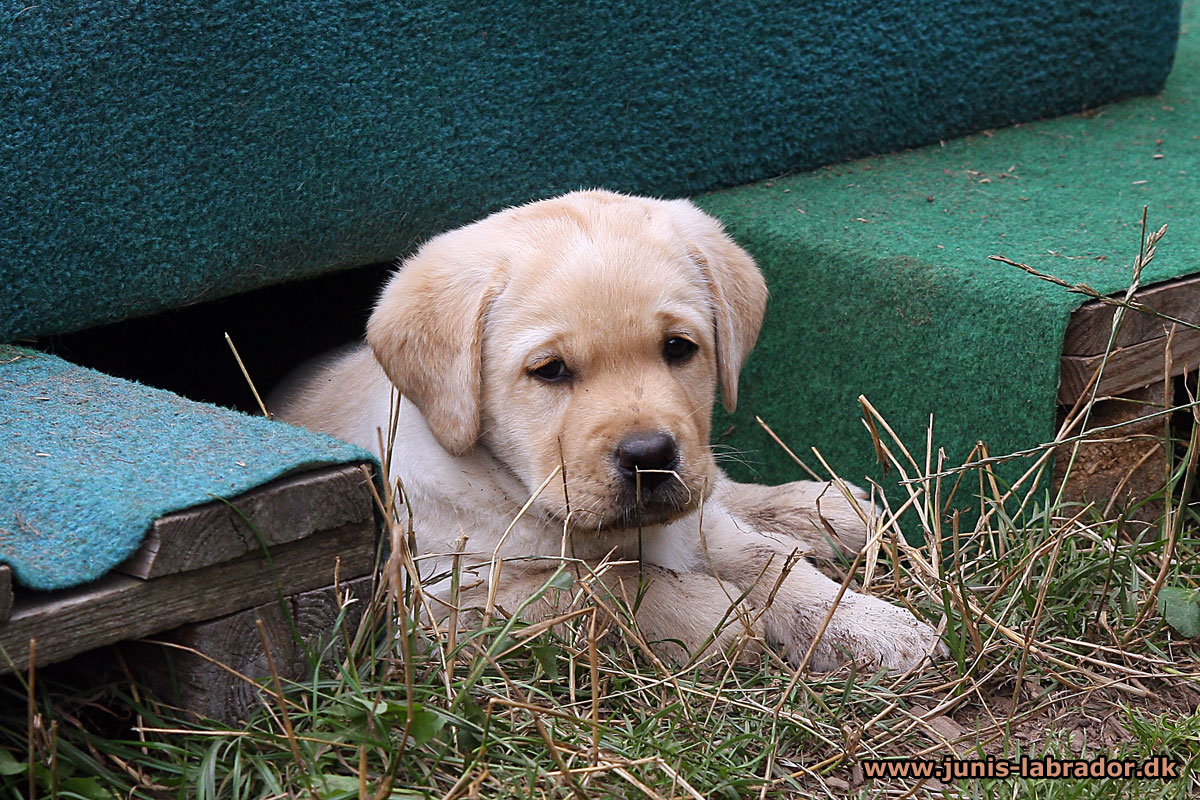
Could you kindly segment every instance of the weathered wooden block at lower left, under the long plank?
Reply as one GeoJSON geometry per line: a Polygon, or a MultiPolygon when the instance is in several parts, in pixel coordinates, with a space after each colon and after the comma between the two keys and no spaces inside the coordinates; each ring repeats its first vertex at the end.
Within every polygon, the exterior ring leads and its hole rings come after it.
{"type": "Polygon", "coordinates": [[[258,620],[263,620],[280,676],[304,680],[312,674],[314,660],[335,666],[346,656],[343,637],[354,636],[371,600],[373,583],[373,576],[366,576],[342,582],[336,589],[326,587],[295,595],[286,603],[271,602],[185,625],[157,638],[186,650],[138,643],[134,645],[137,657],[130,663],[136,664],[133,668],[139,678],[160,697],[197,715],[232,724],[245,718],[252,706],[263,702],[264,694],[257,684],[223,667],[256,681],[271,674],[258,620]],[[346,603],[346,613],[337,625],[342,610],[340,601],[346,603]]]}

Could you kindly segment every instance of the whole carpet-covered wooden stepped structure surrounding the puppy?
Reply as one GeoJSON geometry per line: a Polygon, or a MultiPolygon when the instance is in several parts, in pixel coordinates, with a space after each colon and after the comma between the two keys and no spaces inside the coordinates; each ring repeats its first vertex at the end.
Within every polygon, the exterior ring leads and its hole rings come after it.
{"type": "MultiPolygon", "coordinates": [[[[1170,230],[1141,283],[1196,321],[1194,32],[1154,95],[1180,14],[1178,0],[13,12],[0,672],[181,625],[203,650],[280,597],[318,631],[344,604],[335,571],[368,590],[372,456],[247,413],[221,333],[242,331],[265,389],[360,330],[382,272],[358,267],[566,190],[694,196],[758,259],[768,319],[739,411],[715,427],[732,428],[740,477],[803,476],[758,416],[848,480],[894,481],[859,395],[912,441],[932,415],[950,461],[977,440],[1049,440],[1109,349],[1104,309],[988,257],[1120,291],[1147,205],[1170,230]]],[[[1105,393],[1160,383],[1168,341],[1171,371],[1194,368],[1195,329],[1153,319],[1123,329],[1105,393]]],[[[209,697],[210,714],[233,702],[209,697]]]]}

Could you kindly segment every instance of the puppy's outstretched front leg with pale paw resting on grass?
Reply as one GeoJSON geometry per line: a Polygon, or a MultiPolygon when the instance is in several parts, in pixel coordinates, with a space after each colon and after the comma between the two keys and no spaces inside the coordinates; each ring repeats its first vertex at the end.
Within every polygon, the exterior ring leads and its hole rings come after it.
{"type": "Polygon", "coordinates": [[[822,625],[824,633],[809,660],[821,672],[847,658],[902,672],[930,654],[946,654],[934,628],[904,608],[851,590],[835,606],[840,584],[793,555],[800,542],[755,530],[713,503],[706,506],[703,524],[706,560],[722,581],[748,590],[751,606],[766,607],[767,638],[782,644],[793,663],[803,661],[822,625]]]}

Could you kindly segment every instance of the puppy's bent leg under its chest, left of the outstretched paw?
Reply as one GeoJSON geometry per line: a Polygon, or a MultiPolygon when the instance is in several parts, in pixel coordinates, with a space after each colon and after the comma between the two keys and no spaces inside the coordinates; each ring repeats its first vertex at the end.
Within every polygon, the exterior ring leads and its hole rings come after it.
{"type": "MultiPolygon", "coordinates": [[[[709,575],[674,572],[652,564],[617,564],[599,576],[581,570],[571,587],[547,589],[527,603],[554,570],[505,565],[494,593],[496,607],[505,615],[520,613],[526,621],[535,622],[586,606],[592,596],[604,614],[620,615],[620,606],[634,609],[637,632],[671,663],[686,663],[694,656],[715,651],[736,650],[739,657],[758,652],[762,636],[757,614],[745,602],[736,604],[740,589],[709,575]]],[[[458,604],[478,609],[486,599],[485,582],[466,590],[458,604]]]]}

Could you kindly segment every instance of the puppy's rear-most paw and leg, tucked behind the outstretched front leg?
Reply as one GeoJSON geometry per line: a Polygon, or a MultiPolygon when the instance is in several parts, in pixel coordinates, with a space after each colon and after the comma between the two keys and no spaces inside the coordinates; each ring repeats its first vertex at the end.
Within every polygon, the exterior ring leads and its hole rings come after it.
{"type": "Polygon", "coordinates": [[[853,558],[863,549],[868,534],[863,519],[874,513],[866,492],[852,483],[846,487],[854,505],[834,483],[792,481],[760,486],[738,483],[721,475],[713,498],[739,527],[784,537],[812,558],[833,561],[838,557],[853,558]]]}

